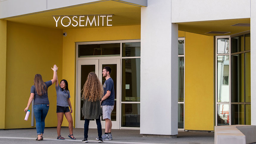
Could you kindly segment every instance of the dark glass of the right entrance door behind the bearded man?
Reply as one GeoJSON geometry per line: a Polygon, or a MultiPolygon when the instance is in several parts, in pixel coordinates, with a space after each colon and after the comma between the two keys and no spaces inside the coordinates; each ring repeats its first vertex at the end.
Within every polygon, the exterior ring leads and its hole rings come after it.
{"type": "MultiPolygon", "coordinates": [[[[102,65],[102,69],[101,70],[103,70],[103,68],[105,66],[109,66],[111,68],[110,77],[113,79],[113,82],[114,82],[115,105],[114,105],[113,111],[111,112],[111,120],[112,121],[116,121],[116,76],[117,76],[116,72],[117,72],[117,67],[116,67],[116,64],[107,64],[107,65],[102,65]]],[[[106,81],[106,79],[102,76],[102,85],[104,84],[105,81],[106,81]]]]}

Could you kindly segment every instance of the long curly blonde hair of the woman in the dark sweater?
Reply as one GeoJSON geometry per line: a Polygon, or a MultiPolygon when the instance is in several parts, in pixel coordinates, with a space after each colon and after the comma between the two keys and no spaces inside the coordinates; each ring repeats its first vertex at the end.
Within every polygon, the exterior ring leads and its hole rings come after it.
{"type": "Polygon", "coordinates": [[[83,87],[83,99],[88,99],[88,101],[100,101],[103,96],[103,86],[99,81],[96,73],[90,72],[88,74],[87,80],[83,87]]]}

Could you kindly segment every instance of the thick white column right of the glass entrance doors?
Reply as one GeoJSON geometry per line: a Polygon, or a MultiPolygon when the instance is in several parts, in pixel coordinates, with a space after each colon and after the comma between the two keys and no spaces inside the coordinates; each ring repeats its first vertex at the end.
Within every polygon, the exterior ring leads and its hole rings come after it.
{"type": "Polygon", "coordinates": [[[178,134],[178,25],[170,0],[141,8],[141,134],[178,134]]]}

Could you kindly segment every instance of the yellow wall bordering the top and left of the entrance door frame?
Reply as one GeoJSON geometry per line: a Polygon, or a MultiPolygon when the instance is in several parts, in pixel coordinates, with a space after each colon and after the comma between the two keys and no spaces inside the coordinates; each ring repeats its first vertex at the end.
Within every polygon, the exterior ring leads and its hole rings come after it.
{"type": "MultiPolygon", "coordinates": [[[[130,40],[141,38],[141,26],[113,26],[100,28],[84,29],[66,29],[67,33],[63,37],[63,79],[68,81],[70,90],[70,101],[75,109],[75,60],[76,60],[76,43],[88,41],[105,41],[105,40],[130,40]]],[[[72,114],[74,119],[74,113],[72,114]]]]}

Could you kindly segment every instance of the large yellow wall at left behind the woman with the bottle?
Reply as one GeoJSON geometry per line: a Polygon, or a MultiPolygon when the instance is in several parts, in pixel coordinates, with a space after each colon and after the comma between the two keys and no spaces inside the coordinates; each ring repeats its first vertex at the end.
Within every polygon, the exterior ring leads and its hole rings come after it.
{"type": "MultiPolygon", "coordinates": [[[[62,38],[62,30],[7,21],[5,129],[31,127],[31,115],[25,121],[24,109],[35,74],[49,81],[53,76],[51,67],[56,64],[60,68],[58,77],[62,78],[62,38]]],[[[46,127],[57,126],[54,85],[49,87],[48,97],[46,127]]]]}

